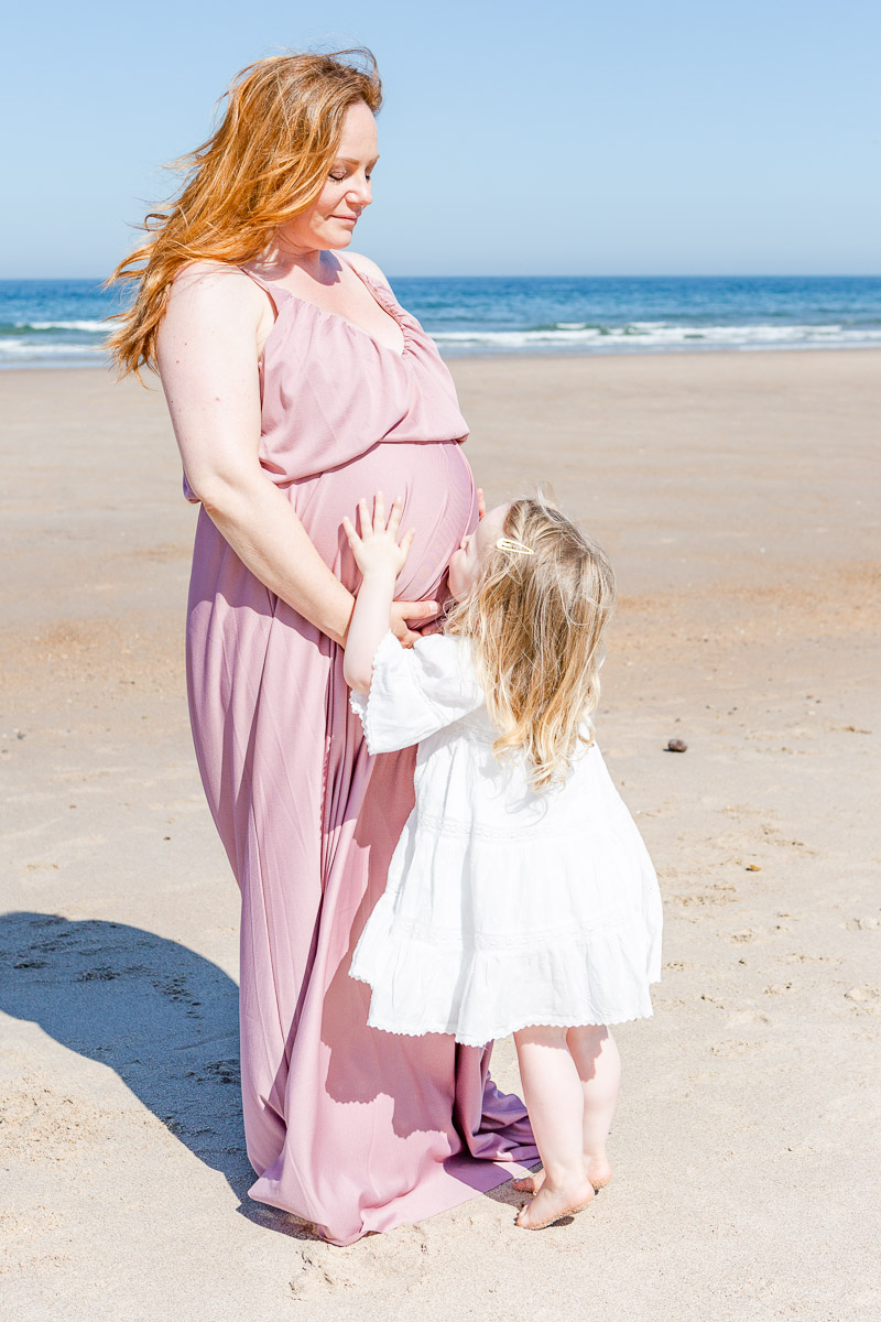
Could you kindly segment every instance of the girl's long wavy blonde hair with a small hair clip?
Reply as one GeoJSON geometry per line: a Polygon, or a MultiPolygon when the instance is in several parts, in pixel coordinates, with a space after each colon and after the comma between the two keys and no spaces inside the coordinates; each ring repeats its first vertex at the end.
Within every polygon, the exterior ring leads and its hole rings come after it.
{"type": "Polygon", "coordinates": [[[499,731],[493,752],[522,751],[532,788],[543,791],[565,780],[580,743],[593,742],[588,718],[600,699],[614,575],[602,549],[544,498],[515,500],[505,538],[507,546],[487,549],[445,628],[472,640],[499,731]]]}

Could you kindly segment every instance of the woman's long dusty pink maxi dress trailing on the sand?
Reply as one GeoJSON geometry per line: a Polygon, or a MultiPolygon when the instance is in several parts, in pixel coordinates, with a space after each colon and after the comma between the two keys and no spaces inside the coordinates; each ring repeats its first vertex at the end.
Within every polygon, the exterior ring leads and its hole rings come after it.
{"type": "MultiPolygon", "coordinates": [[[[378,489],[404,496],[416,541],[396,595],[433,599],[477,517],[466,423],[431,338],[361,278],[402,327],[403,354],[258,280],[277,315],[260,461],[349,588],[342,516],[378,489]]],[[[370,989],[347,976],[413,804],[415,751],[369,756],[342,650],[242,564],[205,510],[188,677],[202,781],[242,890],[251,1196],[349,1244],[502,1183],[510,1166],[494,1162],[536,1151],[524,1107],[487,1077],[489,1050],[367,1029],[370,989]]]]}

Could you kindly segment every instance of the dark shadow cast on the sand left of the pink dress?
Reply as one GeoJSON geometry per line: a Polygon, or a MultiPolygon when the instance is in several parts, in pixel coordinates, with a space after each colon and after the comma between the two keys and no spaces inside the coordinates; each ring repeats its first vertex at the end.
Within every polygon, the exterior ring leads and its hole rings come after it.
{"type": "Polygon", "coordinates": [[[238,988],[177,941],[124,923],[54,914],[0,916],[0,1010],[115,1069],[214,1170],[251,1220],[312,1239],[254,1203],[239,1096],[238,988]]]}

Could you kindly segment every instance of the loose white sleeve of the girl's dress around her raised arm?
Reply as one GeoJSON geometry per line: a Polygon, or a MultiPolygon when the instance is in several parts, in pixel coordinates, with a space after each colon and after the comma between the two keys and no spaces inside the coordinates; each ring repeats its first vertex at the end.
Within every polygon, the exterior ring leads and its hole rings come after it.
{"type": "Polygon", "coordinates": [[[387,633],[374,657],[370,694],[353,693],[351,710],[361,717],[367,751],[394,752],[437,734],[483,703],[461,637],[432,633],[413,648],[403,648],[387,633]]]}

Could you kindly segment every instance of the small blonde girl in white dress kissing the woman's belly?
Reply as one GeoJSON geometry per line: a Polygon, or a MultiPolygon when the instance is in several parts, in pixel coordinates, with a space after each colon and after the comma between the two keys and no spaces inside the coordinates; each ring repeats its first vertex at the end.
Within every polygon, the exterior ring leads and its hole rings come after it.
{"type": "Polygon", "coordinates": [[[614,584],[557,509],[490,510],[449,566],[442,633],[388,632],[402,502],[343,527],[363,575],[345,654],[371,754],[417,743],[416,806],[351,977],[369,1023],[482,1046],[514,1034],[543,1162],[516,1224],[580,1211],[609,1179],[619,1062],[605,1027],[651,1014],[660,898],[589,714],[614,584]]]}

